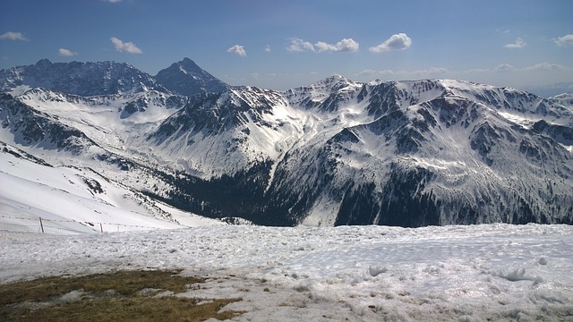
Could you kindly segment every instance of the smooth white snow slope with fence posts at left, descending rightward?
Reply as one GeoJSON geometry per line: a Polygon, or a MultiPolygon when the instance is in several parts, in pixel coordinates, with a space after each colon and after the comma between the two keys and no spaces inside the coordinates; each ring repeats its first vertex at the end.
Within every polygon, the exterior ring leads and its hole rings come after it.
{"type": "MultiPolygon", "coordinates": [[[[0,227],[21,231],[97,233],[173,229],[222,223],[184,214],[90,168],[51,166],[2,143],[0,227]],[[26,230],[32,227],[32,230],[26,230]]],[[[9,230],[10,230],[9,229],[9,230]]]]}

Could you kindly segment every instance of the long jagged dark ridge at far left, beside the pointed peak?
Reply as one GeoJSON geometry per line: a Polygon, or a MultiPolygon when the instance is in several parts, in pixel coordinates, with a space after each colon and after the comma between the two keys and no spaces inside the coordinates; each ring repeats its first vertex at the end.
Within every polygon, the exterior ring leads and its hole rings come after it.
{"type": "Polygon", "coordinates": [[[167,91],[153,78],[125,63],[51,63],[47,59],[29,66],[0,71],[0,89],[18,86],[52,89],[84,97],[133,93],[143,90],[167,91]]]}

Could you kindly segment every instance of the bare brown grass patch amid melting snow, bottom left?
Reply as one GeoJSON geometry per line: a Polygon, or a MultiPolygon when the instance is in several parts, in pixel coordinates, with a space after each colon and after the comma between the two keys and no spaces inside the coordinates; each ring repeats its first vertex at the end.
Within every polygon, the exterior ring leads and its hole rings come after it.
{"type": "Polygon", "coordinates": [[[184,277],[178,273],[119,271],[3,284],[0,285],[0,320],[203,321],[233,318],[243,313],[218,313],[227,304],[241,299],[201,301],[196,298],[154,297],[158,292],[188,292],[188,285],[204,282],[201,278],[184,277]],[[145,289],[157,292],[141,292],[145,289]],[[63,298],[65,294],[73,296],[63,298]]]}

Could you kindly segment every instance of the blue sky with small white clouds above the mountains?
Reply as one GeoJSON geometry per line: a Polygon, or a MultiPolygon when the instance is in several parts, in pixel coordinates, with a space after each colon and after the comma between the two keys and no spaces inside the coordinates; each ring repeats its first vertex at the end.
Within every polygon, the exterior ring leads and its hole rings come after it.
{"type": "Polygon", "coordinates": [[[336,73],[573,92],[572,14],[570,0],[0,0],[0,68],[111,60],[155,75],[189,57],[264,89],[336,73]]]}

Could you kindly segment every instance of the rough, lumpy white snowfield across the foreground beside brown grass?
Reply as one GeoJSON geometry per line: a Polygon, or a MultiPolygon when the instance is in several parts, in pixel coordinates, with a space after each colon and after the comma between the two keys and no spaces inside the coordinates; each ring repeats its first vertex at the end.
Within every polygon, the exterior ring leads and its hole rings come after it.
{"type": "Polygon", "coordinates": [[[182,268],[241,321],[573,320],[571,245],[566,225],[0,232],[0,282],[182,268]]]}

